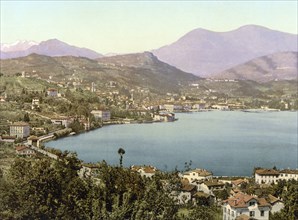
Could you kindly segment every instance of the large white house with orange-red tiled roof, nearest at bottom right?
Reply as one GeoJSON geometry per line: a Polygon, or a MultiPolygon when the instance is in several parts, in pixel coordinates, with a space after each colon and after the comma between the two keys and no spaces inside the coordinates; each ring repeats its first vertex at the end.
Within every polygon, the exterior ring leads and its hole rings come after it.
{"type": "Polygon", "coordinates": [[[223,201],[223,220],[242,219],[247,216],[258,220],[268,220],[270,204],[264,198],[238,193],[223,201]],[[241,218],[240,218],[241,219],[241,218]]]}

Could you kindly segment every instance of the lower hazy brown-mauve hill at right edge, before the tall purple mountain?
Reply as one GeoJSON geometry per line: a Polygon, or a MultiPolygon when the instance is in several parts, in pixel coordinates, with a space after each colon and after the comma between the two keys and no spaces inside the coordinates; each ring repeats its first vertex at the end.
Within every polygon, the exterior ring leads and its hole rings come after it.
{"type": "Polygon", "coordinates": [[[217,79],[240,79],[268,82],[297,79],[298,53],[281,52],[253,59],[214,76],[217,79]]]}

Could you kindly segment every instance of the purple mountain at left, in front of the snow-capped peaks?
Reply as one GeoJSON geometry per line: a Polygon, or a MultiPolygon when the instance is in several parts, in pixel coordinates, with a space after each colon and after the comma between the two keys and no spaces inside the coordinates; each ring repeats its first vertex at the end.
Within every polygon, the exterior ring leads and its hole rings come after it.
{"type": "Polygon", "coordinates": [[[57,39],[51,39],[47,41],[42,41],[37,45],[32,45],[26,50],[18,50],[18,51],[1,50],[1,59],[24,57],[32,53],[46,55],[46,56],[87,57],[90,59],[95,59],[102,56],[101,54],[93,50],[71,46],[57,39]]]}

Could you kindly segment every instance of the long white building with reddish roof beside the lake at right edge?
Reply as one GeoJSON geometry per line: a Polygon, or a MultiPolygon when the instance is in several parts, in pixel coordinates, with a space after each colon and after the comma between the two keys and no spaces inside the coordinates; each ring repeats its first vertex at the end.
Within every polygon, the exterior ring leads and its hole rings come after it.
{"type": "Polygon", "coordinates": [[[260,168],[255,171],[255,182],[258,184],[277,183],[281,180],[298,180],[298,170],[275,170],[260,168]]]}

